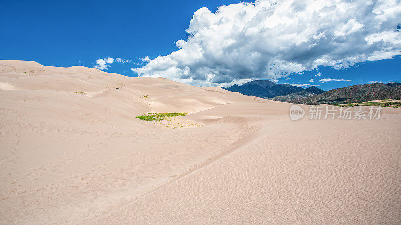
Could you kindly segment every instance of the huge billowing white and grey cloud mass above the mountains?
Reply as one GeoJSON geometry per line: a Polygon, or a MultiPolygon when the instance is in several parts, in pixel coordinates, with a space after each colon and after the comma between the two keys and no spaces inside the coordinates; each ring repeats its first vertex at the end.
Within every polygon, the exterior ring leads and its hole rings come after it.
{"type": "MultiPolygon", "coordinates": [[[[399,0],[256,0],[196,11],[177,51],[133,69],[192,85],[278,79],[401,54],[399,0]]],[[[320,74],[320,73],[318,73],[320,74]]],[[[316,75],[318,77],[320,75],[316,75]]]]}

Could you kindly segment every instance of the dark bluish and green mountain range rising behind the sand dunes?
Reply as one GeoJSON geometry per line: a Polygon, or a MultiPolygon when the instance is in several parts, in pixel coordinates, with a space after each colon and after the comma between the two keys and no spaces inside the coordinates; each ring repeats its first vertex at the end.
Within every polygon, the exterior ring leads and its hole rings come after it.
{"type": "Polygon", "coordinates": [[[315,86],[296,87],[269,80],[254,80],[223,88],[244,95],[297,104],[345,104],[371,100],[401,99],[401,83],[372,83],[323,91],[315,86]]]}

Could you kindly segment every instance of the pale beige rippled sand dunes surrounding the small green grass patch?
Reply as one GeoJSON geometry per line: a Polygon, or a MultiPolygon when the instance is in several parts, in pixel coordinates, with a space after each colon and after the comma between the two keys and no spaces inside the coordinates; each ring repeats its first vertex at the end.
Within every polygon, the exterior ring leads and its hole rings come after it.
{"type": "Polygon", "coordinates": [[[0,95],[2,223],[401,222],[399,109],[293,122],[220,88],[1,60],[0,95]]]}

